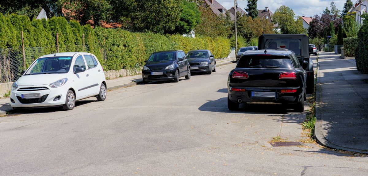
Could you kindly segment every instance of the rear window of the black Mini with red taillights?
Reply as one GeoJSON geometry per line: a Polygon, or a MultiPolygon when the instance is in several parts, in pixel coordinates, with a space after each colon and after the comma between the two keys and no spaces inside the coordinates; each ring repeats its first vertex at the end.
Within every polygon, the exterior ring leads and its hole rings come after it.
{"type": "Polygon", "coordinates": [[[237,68],[293,68],[287,56],[243,56],[238,61],[237,68]]]}

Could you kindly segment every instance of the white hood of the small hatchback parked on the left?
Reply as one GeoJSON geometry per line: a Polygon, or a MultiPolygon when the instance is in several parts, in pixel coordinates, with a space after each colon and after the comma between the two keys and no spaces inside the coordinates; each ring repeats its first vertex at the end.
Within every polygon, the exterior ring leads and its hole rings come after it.
{"type": "Polygon", "coordinates": [[[57,80],[67,78],[66,73],[23,75],[17,81],[17,85],[33,86],[51,84],[57,80]]]}

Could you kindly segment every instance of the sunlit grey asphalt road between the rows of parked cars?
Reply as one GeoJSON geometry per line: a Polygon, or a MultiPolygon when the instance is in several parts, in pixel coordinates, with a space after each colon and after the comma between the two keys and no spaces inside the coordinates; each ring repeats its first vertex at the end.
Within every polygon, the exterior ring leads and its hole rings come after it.
{"type": "Polygon", "coordinates": [[[152,83],[0,117],[0,175],[367,175],[368,158],[301,141],[305,113],[280,106],[227,109],[235,64],[178,83],[152,83]]]}

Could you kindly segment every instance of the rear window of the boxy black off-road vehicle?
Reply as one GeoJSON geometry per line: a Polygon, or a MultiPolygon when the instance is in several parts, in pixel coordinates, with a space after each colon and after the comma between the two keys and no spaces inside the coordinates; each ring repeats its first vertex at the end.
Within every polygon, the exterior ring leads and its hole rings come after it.
{"type": "Polygon", "coordinates": [[[301,53],[301,40],[300,39],[267,39],[265,43],[265,49],[280,49],[286,48],[295,53],[297,57],[300,57],[301,53]]]}

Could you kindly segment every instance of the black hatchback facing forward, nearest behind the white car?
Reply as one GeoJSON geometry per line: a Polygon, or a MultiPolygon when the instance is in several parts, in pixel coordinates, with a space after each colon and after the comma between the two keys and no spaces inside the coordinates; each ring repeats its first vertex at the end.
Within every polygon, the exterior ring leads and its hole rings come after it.
{"type": "Polygon", "coordinates": [[[179,82],[179,78],[184,76],[185,79],[190,79],[190,65],[182,50],[155,52],[142,70],[144,83],[169,80],[179,82]]]}

